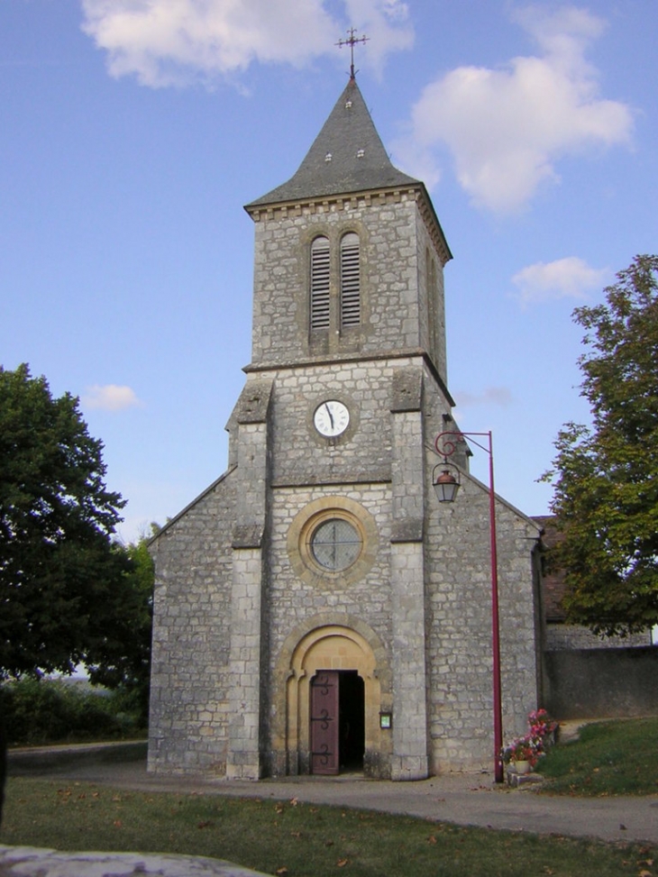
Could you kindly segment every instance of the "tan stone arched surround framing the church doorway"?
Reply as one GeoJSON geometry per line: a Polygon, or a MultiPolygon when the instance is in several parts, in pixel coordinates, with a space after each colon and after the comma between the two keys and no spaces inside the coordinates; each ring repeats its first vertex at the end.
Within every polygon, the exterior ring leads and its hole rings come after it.
{"type": "Polygon", "coordinates": [[[319,670],[357,671],[365,701],[366,775],[390,775],[392,739],[379,727],[379,713],[392,708],[388,655],[379,636],[359,619],[323,613],[288,635],[274,680],[273,766],[279,773],[309,772],[310,683],[319,670]]]}

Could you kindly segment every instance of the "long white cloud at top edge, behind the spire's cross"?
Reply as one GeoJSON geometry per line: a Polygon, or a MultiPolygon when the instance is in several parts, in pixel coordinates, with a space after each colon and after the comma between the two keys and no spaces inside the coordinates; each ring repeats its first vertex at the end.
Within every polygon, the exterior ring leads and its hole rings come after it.
{"type": "MultiPolygon", "coordinates": [[[[82,0],[83,31],[107,52],[114,77],[145,86],[207,84],[252,63],[301,67],[336,53],[346,25],[330,0],[82,0]]],[[[370,38],[359,59],[376,69],[413,41],[401,0],[344,0],[348,22],[370,38]]],[[[338,57],[336,55],[336,57],[338,57]]]]}

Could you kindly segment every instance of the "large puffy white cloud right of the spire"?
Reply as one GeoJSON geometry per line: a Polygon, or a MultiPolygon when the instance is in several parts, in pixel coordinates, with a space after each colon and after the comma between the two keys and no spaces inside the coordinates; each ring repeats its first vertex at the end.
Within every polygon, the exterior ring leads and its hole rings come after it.
{"type": "Polygon", "coordinates": [[[562,156],[628,144],[629,107],[599,96],[585,59],[605,23],[586,10],[527,7],[515,19],[539,45],[536,56],[504,68],[461,67],[425,87],[412,110],[398,163],[429,185],[439,176],[435,150],[452,153],[457,178],[474,203],[514,212],[544,181],[559,179],[562,156]]]}

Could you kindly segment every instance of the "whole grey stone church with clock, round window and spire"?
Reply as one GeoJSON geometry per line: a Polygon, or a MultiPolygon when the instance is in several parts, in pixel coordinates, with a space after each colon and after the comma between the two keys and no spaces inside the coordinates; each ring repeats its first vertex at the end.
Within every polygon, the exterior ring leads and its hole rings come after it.
{"type": "MultiPolygon", "coordinates": [[[[295,175],[245,210],[251,362],[227,468],[151,543],[149,770],[490,769],[489,489],[462,438],[450,463],[435,447],[460,435],[446,368],[452,255],[353,71],[295,175]],[[437,501],[437,464],[457,470],[454,502],[437,501]]],[[[494,505],[507,739],[541,696],[541,528],[494,505]]]]}

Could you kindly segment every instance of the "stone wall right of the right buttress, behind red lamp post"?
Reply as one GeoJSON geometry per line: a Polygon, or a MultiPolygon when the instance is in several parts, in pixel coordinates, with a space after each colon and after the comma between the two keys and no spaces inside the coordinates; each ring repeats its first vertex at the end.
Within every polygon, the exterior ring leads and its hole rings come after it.
{"type": "MultiPolygon", "coordinates": [[[[428,418],[426,446],[434,429],[428,418]]],[[[450,425],[448,425],[450,428],[450,425]]],[[[452,426],[452,428],[456,428],[452,426]]],[[[476,449],[476,452],[477,451],[476,449]]],[[[452,504],[429,487],[439,458],[427,451],[426,581],[429,602],[433,771],[489,768],[493,758],[493,659],[489,492],[462,473],[452,504]]],[[[504,739],[525,730],[537,706],[533,549],[538,527],[496,505],[504,739]]]]}

